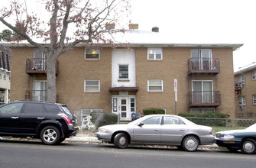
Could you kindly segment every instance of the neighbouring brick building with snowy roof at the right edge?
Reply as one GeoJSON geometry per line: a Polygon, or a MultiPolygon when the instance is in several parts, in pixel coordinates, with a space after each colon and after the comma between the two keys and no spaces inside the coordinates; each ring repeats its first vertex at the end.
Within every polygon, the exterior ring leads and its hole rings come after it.
{"type": "Polygon", "coordinates": [[[235,117],[256,118],[256,63],[239,68],[235,75],[235,117]]]}

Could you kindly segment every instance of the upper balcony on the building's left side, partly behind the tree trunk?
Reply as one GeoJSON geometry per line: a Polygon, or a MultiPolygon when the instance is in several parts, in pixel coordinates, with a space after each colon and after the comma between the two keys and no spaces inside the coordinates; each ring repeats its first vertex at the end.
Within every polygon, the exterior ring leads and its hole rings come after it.
{"type": "MultiPolygon", "coordinates": [[[[28,58],[26,60],[26,73],[47,73],[47,61],[44,58],[28,58]]],[[[59,74],[59,62],[56,63],[56,74],[59,74]]]]}

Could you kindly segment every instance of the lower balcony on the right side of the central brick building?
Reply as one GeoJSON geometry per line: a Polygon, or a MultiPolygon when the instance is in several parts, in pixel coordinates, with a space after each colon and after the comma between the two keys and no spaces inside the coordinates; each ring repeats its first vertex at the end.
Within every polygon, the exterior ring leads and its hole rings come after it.
{"type": "Polygon", "coordinates": [[[190,107],[218,107],[221,105],[219,91],[190,92],[190,107]]]}

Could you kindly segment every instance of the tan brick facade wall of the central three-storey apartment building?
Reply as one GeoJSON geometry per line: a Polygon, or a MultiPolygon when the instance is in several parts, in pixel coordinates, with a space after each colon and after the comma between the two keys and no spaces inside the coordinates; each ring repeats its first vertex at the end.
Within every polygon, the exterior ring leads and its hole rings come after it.
{"type": "MultiPolygon", "coordinates": [[[[217,112],[235,117],[235,93],[232,63],[232,49],[212,48],[212,57],[220,59],[220,73],[217,75],[196,74],[188,76],[187,61],[191,48],[163,48],[163,60],[147,60],[147,47],[136,51],[136,94],[137,109],[166,108],[167,114],[174,114],[173,79],[178,80],[177,112],[189,112],[189,95],[192,80],[212,80],[214,91],[222,94],[222,105],[217,112]],[[147,79],[164,79],[164,92],[147,92],[147,79]]],[[[27,57],[33,57],[33,48],[12,48],[11,60],[11,101],[24,99],[25,91],[33,89],[34,79],[46,79],[46,75],[25,73],[27,57]]],[[[80,117],[83,108],[102,108],[112,111],[112,49],[101,50],[100,60],[85,60],[84,48],[75,47],[60,56],[57,76],[57,100],[69,105],[80,117]],[[100,79],[101,92],[84,92],[85,79],[100,79]]],[[[134,94],[134,93],[129,93],[134,94]]]]}

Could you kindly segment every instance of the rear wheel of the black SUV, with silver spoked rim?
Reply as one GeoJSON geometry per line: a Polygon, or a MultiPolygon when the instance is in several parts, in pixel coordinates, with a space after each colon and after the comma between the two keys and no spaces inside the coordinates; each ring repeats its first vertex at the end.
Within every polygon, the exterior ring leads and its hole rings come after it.
{"type": "Polygon", "coordinates": [[[60,142],[60,131],[54,126],[47,126],[42,129],[40,137],[44,144],[58,144],[60,142]]]}

